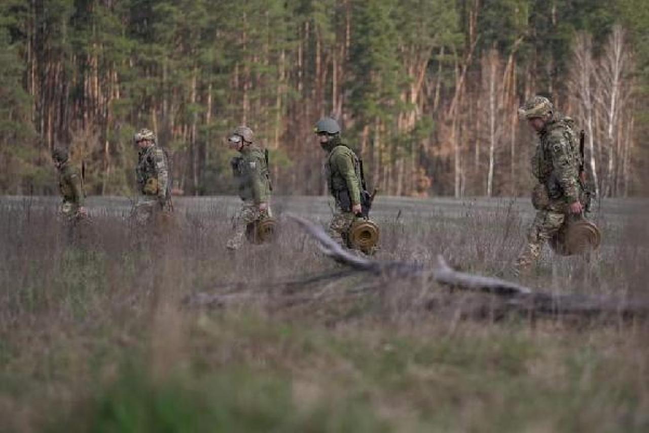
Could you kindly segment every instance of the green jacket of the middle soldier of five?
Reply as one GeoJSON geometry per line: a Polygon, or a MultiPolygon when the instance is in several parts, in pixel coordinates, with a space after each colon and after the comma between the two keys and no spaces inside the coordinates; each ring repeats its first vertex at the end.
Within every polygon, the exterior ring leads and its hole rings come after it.
{"type": "Polygon", "coordinates": [[[263,150],[252,144],[232,158],[232,174],[237,183],[239,197],[255,204],[268,202],[271,196],[271,179],[263,150]]]}

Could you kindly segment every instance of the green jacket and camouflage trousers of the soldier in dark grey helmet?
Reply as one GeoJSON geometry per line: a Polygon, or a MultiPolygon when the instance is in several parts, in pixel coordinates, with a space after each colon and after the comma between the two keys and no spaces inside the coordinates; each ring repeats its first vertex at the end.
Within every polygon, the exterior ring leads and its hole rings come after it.
{"type": "Polygon", "coordinates": [[[347,246],[349,231],[356,215],[352,206],[361,203],[360,167],[356,153],[339,137],[334,137],[326,146],[328,156],[324,163],[329,192],[336,200],[336,211],[329,223],[328,233],[334,241],[347,246]]]}

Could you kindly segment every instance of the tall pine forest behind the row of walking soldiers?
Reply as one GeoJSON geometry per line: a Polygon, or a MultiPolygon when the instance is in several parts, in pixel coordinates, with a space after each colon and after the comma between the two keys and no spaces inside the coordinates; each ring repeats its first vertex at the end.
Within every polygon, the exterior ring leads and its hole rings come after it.
{"type": "Polygon", "coordinates": [[[67,146],[89,195],[134,194],[155,131],[186,196],[233,191],[226,138],[270,150],[277,194],[323,194],[321,116],[396,196],[520,196],[547,96],[585,131],[600,197],[643,194],[646,0],[2,0],[0,193],[55,194],[67,146]]]}

